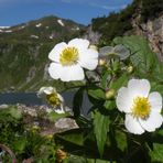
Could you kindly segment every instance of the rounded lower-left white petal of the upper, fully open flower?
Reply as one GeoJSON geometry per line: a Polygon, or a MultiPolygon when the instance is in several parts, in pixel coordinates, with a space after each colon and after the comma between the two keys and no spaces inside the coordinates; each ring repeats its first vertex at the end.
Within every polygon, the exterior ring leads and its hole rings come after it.
{"type": "Polygon", "coordinates": [[[61,78],[62,66],[57,63],[52,63],[48,67],[48,74],[52,78],[58,79],[61,78]]]}

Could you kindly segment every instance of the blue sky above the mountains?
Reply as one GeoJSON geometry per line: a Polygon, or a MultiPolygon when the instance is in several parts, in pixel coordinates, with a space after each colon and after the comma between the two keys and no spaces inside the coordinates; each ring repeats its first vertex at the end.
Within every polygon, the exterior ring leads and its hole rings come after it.
{"type": "Polygon", "coordinates": [[[0,0],[0,26],[10,26],[45,15],[72,19],[82,24],[119,11],[132,0],[0,0]]]}

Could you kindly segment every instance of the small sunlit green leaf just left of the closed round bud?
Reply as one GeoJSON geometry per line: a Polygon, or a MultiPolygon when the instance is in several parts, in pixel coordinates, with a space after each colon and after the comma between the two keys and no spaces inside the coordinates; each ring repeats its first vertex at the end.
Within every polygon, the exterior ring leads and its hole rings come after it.
{"type": "Polygon", "coordinates": [[[96,86],[88,88],[88,95],[98,100],[104,100],[106,98],[105,91],[96,86]]]}

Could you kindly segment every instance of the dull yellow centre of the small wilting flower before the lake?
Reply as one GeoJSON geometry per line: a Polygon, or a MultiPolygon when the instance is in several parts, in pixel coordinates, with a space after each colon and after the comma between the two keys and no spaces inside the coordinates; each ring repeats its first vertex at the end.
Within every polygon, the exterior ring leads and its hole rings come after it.
{"type": "Polygon", "coordinates": [[[53,106],[53,107],[57,107],[61,104],[59,98],[57,97],[57,94],[51,94],[51,95],[46,95],[46,100],[48,102],[48,105],[53,106]]]}

